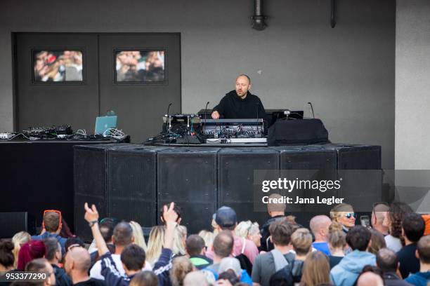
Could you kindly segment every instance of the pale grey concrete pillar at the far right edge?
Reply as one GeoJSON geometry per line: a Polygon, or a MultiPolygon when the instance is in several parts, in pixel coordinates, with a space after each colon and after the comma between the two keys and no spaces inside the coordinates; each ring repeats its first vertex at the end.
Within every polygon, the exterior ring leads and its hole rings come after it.
{"type": "Polygon", "coordinates": [[[430,170],[430,2],[396,13],[396,169],[430,170]]]}

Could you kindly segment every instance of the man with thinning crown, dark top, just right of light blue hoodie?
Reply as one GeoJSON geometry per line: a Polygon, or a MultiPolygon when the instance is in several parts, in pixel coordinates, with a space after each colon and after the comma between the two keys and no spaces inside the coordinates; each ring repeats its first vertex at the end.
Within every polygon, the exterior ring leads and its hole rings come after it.
{"type": "Polygon", "coordinates": [[[408,282],[401,280],[398,276],[398,257],[396,252],[389,248],[382,248],[376,254],[377,266],[382,271],[382,278],[386,286],[410,286],[408,282]]]}

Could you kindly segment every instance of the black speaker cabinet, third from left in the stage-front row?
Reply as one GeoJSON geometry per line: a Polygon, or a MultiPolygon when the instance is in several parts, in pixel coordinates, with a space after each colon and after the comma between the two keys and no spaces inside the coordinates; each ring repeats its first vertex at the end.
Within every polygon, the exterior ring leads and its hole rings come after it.
{"type": "MultiPolygon", "coordinates": [[[[176,148],[157,153],[158,211],[175,202],[188,233],[211,225],[216,211],[216,154],[219,148],[176,148]]],[[[159,222],[159,215],[157,215],[159,222]]]]}

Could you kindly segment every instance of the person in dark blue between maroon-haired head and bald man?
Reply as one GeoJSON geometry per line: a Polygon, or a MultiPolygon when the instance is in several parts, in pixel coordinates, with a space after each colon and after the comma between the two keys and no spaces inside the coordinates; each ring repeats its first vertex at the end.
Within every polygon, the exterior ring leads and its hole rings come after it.
{"type": "Polygon", "coordinates": [[[60,261],[62,259],[60,243],[58,243],[56,238],[46,238],[44,243],[46,247],[45,258],[48,260],[54,270],[56,275],[56,285],[72,285],[72,280],[70,280],[70,277],[67,276],[64,269],[60,267],[60,261]]]}

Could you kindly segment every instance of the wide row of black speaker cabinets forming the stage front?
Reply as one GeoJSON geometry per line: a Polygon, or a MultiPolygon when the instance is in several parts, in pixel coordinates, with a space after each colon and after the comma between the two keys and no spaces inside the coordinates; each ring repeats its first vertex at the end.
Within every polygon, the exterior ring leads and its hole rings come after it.
{"type": "MultiPolygon", "coordinates": [[[[78,236],[91,240],[83,205],[94,203],[100,217],[134,220],[142,226],[159,224],[159,210],[171,201],[182,209],[181,224],[188,233],[210,229],[211,217],[222,205],[233,207],[239,221],[263,224],[267,212],[255,205],[256,177],[301,176],[307,179],[344,179],[346,203],[356,207],[381,201],[381,147],[325,144],[285,147],[211,144],[146,146],[98,144],[74,147],[74,227],[78,236]],[[262,171],[259,171],[262,170],[262,171]],[[299,171],[304,171],[297,175],[299,171]],[[313,170],[313,172],[308,172],[313,170]],[[372,171],[372,179],[356,182],[346,170],[372,171]],[[378,173],[377,173],[378,174],[378,173]],[[349,193],[348,193],[349,192],[349,193]]],[[[261,187],[261,186],[260,186],[261,187]]],[[[258,191],[258,190],[257,190],[258,191]]],[[[308,190],[302,191],[303,194],[308,190]]],[[[333,206],[333,205],[332,205],[333,206]]],[[[358,210],[360,211],[360,210],[358,210]]],[[[315,213],[306,205],[287,207],[304,226],[315,213]]]]}

